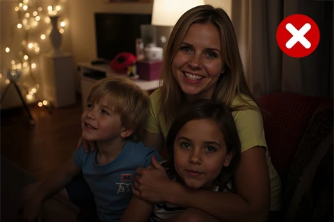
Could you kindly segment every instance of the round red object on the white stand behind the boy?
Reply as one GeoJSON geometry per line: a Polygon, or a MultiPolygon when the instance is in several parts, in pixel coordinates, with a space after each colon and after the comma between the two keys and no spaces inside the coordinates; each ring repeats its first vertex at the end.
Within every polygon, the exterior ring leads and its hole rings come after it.
{"type": "Polygon", "coordinates": [[[127,74],[127,67],[129,65],[134,65],[136,62],[136,56],[132,53],[118,53],[113,60],[110,62],[110,66],[113,70],[120,74],[127,74]]]}

